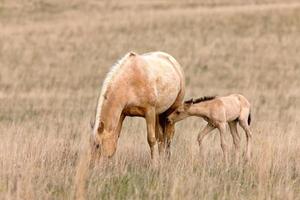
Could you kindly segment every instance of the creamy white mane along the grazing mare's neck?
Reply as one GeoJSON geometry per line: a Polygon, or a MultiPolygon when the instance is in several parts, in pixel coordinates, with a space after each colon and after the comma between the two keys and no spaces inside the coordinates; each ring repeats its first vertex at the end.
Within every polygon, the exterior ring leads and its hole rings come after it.
{"type": "Polygon", "coordinates": [[[123,56],[121,59],[119,59],[109,70],[109,72],[106,74],[105,79],[102,83],[102,89],[101,93],[98,97],[98,102],[97,102],[97,109],[96,109],[96,118],[95,118],[95,123],[94,123],[94,130],[93,134],[97,134],[97,129],[99,128],[100,124],[100,115],[101,115],[101,109],[102,109],[102,104],[104,100],[105,93],[107,91],[107,88],[109,84],[112,82],[112,80],[116,77],[118,72],[120,71],[120,67],[124,64],[124,62],[127,60],[127,58],[132,55],[132,52],[127,53],[125,56],[123,56]]]}

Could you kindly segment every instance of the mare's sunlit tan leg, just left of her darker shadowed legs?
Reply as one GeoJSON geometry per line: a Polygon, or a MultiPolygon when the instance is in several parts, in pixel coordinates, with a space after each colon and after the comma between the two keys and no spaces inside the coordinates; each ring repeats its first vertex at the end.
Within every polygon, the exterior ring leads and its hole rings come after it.
{"type": "Polygon", "coordinates": [[[151,107],[146,111],[147,123],[147,140],[151,150],[151,158],[154,159],[154,146],[156,143],[155,138],[155,108],[151,107]]]}

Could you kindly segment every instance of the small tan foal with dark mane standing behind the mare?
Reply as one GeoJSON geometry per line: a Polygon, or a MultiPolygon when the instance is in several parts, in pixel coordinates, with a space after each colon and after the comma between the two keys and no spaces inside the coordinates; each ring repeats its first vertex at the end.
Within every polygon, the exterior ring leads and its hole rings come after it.
{"type": "MultiPolygon", "coordinates": [[[[169,123],[175,123],[189,116],[197,116],[207,121],[205,128],[198,134],[198,143],[201,147],[203,138],[217,128],[220,132],[221,148],[225,163],[228,163],[228,147],[225,142],[226,123],[229,124],[230,132],[235,145],[235,157],[239,157],[240,136],[237,131],[237,123],[244,129],[247,138],[246,158],[251,156],[252,132],[249,128],[251,123],[250,103],[240,94],[228,96],[201,97],[196,100],[185,101],[174,110],[167,118],[169,123]]],[[[237,160],[236,160],[237,161],[237,160]]]]}

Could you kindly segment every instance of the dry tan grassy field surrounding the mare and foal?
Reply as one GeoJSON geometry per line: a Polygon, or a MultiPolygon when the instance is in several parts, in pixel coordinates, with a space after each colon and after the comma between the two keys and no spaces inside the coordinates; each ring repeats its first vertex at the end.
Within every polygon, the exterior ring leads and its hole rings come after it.
{"type": "Polygon", "coordinates": [[[154,167],[144,120],[127,118],[114,158],[87,177],[87,199],[300,199],[295,2],[0,0],[0,199],[74,199],[101,83],[130,50],[173,55],[186,98],[244,94],[253,158],[224,170],[216,131],[200,158],[205,122],[191,118],[154,167]]]}

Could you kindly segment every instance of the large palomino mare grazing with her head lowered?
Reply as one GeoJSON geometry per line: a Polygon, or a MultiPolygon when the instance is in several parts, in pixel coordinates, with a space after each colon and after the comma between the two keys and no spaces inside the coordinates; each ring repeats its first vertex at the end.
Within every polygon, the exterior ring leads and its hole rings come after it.
{"type": "Polygon", "coordinates": [[[127,53],[102,85],[91,137],[92,161],[115,153],[126,116],[146,119],[151,158],[157,139],[159,152],[166,148],[169,154],[174,125],[167,123],[166,117],[182,104],[184,92],[184,74],[172,56],[127,53]]]}

